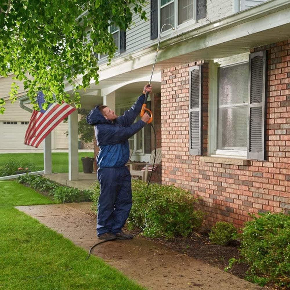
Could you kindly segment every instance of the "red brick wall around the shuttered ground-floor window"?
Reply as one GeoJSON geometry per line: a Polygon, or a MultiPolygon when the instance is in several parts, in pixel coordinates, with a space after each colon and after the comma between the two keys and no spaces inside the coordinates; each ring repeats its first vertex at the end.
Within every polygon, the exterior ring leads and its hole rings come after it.
{"type": "MultiPolygon", "coordinates": [[[[267,49],[267,160],[247,166],[209,163],[189,155],[190,63],[162,72],[162,183],[175,184],[202,197],[206,224],[242,226],[248,213],[290,211],[290,40],[267,49]]],[[[208,67],[203,65],[203,155],[207,154],[208,67]]]]}

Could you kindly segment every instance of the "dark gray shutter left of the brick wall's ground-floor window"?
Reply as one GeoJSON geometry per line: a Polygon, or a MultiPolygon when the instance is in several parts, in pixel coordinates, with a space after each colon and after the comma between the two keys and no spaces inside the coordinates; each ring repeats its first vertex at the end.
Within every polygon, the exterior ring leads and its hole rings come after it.
{"type": "Polygon", "coordinates": [[[189,70],[189,154],[202,154],[202,67],[189,70]]]}

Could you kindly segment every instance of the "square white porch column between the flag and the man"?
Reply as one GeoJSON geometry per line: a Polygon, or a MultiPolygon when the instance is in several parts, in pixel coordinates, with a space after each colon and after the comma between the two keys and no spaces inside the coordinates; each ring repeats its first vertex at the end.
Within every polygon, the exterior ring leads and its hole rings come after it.
{"type": "Polygon", "coordinates": [[[68,116],[68,180],[79,179],[77,110],[68,116]]]}

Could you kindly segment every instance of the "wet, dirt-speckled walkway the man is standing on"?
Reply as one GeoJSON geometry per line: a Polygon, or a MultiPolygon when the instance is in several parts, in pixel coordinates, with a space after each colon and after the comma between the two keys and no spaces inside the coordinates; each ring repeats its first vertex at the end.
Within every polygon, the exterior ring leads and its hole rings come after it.
{"type": "MultiPolygon", "coordinates": [[[[17,206],[88,251],[96,237],[91,203],[17,206]]],[[[135,237],[98,245],[93,254],[148,289],[263,289],[162,245],[135,237]]]]}

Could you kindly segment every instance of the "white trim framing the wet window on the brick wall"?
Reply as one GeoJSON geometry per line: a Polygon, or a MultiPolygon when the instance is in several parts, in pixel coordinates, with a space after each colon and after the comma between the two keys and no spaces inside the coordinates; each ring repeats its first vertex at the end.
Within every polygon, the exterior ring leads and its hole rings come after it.
{"type": "Polygon", "coordinates": [[[249,62],[249,53],[209,61],[209,131],[208,150],[212,157],[247,158],[246,150],[217,149],[218,68],[249,62]]]}

